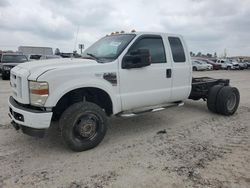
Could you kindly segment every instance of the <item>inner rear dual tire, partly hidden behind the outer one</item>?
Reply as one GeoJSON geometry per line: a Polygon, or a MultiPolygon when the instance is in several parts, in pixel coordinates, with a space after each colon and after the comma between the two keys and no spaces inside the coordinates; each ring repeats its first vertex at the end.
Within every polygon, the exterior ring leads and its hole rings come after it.
{"type": "Polygon", "coordinates": [[[223,88],[222,85],[215,85],[212,88],[210,88],[208,92],[207,108],[213,113],[217,113],[216,109],[217,95],[222,88],[223,88]]]}

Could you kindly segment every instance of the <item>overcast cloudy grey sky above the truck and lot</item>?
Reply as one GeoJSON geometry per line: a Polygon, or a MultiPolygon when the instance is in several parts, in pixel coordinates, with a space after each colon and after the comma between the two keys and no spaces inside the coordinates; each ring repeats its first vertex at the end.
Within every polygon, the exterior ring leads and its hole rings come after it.
{"type": "Polygon", "coordinates": [[[132,29],[181,34],[195,53],[250,56],[250,0],[0,0],[3,50],[79,52],[78,44],[132,29]]]}

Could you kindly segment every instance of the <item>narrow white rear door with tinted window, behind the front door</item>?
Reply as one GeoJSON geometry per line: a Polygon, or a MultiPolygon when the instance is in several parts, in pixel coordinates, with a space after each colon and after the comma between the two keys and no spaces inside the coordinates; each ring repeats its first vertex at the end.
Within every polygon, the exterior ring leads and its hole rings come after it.
{"type": "Polygon", "coordinates": [[[168,36],[173,64],[173,87],[171,101],[188,98],[192,85],[192,63],[184,40],[177,36],[168,36]]]}

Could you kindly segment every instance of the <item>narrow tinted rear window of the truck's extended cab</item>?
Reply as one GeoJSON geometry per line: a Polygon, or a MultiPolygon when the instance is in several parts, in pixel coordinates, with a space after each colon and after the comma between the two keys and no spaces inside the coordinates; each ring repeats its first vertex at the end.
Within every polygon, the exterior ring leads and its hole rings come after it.
{"type": "Polygon", "coordinates": [[[181,40],[178,37],[168,37],[174,62],[181,63],[186,61],[185,52],[181,40]]]}

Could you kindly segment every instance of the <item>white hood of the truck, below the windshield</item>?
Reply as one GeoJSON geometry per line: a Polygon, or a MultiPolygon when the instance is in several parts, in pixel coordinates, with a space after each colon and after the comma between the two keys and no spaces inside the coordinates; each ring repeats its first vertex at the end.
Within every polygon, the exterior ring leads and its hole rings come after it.
{"type": "Polygon", "coordinates": [[[27,63],[19,64],[17,67],[24,68],[29,71],[30,80],[36,80],[40,75],[50,70],[55,69],[69,69],[69,68],[80,68],[100,65],[92,59],[74,59],[74,58],[62,58],[62,59],[49,59],[39,60],[27,63]]]}

